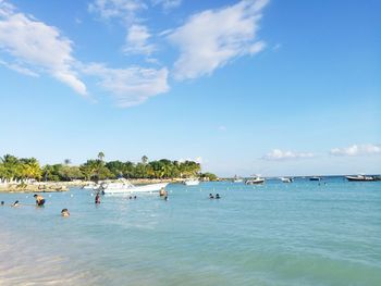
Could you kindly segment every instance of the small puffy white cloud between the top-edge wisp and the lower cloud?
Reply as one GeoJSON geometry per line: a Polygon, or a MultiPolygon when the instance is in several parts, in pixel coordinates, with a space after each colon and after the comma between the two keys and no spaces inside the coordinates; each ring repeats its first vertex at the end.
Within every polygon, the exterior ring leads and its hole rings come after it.
{"type": "Polygon", "coordinates": [[[126,53],[151,54],[156,47],[148,43],[150,37],[146,26],[132,25],[127,32],[124,51],[126,53]]]}

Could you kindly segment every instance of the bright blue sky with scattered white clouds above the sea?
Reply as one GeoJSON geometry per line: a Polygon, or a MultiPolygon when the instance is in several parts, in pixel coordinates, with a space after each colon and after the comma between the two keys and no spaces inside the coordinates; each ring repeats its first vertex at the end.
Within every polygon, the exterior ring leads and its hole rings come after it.
{"type": "Polygon", "coordinates": [[[0,0],[0,156],[381,173],[377,0],[0,0]]]}

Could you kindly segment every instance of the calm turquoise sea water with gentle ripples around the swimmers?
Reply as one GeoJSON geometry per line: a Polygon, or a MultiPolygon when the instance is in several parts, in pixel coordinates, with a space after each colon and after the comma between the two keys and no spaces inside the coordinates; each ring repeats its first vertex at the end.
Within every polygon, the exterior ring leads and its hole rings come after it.
{"type": "Polygon", "coordinates": [[[381,182],[324,182],[170,185],[168,201],[98,207],[72,189],[0,207],[0,285],[381,285],[381,182]]]}

